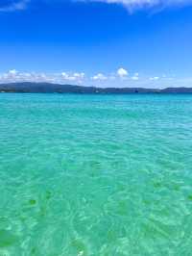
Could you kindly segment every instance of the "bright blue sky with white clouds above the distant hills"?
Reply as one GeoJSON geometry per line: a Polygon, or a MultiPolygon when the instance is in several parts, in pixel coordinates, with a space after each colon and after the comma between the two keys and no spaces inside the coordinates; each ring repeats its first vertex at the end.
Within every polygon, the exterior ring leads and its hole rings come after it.
{"type": "Polygon", "coordinates": [[[192,0],[1,0],[0,82],[192,86],[192,0]]]}

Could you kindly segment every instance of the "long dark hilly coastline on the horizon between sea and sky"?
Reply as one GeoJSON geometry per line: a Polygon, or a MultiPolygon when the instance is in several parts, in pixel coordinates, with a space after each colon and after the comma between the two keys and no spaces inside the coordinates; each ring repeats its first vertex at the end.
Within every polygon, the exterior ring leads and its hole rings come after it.
{"type": "Polygon", "coordinates": [[[10,83],[0,84],[0,92],[20,93],[91,93],[91,94],[129,94],[129,93],[192,93],[192,88],[97,88],[73,85],[60,85],[52,83],[10,83]]]}

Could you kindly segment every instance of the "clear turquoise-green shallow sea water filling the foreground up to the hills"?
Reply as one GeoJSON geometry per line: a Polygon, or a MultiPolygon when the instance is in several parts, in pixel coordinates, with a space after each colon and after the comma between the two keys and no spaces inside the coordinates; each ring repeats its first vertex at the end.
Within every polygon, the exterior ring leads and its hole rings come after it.
{"type": "Polygon", "coordinates": [[[0,94],[0,255],[192,255],[192,95],[0,94]]]}

